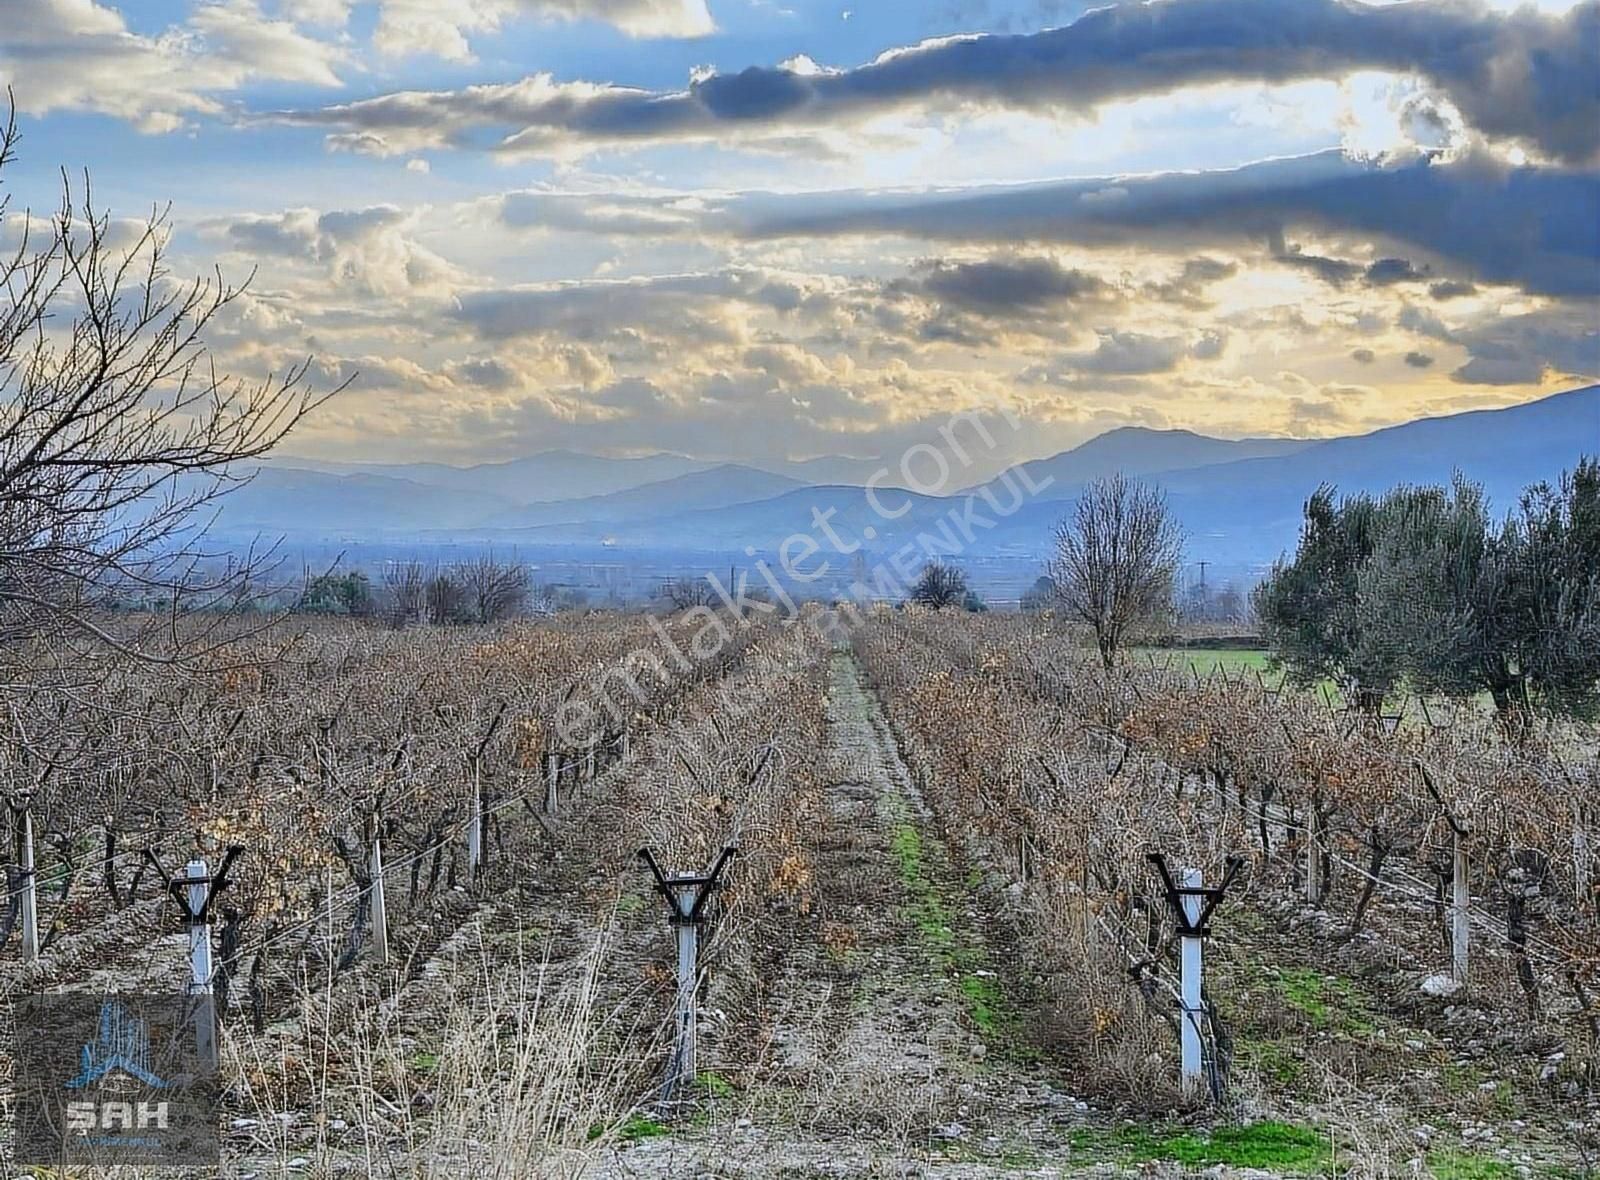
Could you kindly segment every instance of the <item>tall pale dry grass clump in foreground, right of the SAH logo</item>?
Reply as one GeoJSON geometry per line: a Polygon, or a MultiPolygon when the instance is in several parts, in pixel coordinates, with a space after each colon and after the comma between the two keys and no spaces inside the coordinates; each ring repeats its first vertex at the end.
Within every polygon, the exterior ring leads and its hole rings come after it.
{"type": "Polygon", "coordinates": [[[258,1175],[565,1177],[614,1142],[648,1034],[600,1001],[610,931],[562,964],[478,948],[374,1020],[299,1019],[227,1039],[229,1167],[258,1175]],[[435,980],[437,983],[438,980],[435,980]],[[442,995],[440,995],[442,993],[442,995]]]}

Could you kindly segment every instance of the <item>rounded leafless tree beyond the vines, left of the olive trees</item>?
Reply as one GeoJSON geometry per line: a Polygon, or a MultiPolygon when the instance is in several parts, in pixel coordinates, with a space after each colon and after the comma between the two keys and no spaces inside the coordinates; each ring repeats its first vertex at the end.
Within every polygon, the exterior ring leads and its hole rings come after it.
{"type": "Polygon", "coordinates": [[[1122,473],[1085,484],[1077,508],[1056,524],[1056,596],[1094,630],[1107,668],[1130,627],[1171,609],[1182,544],[1160,489],[1122,473]]]}

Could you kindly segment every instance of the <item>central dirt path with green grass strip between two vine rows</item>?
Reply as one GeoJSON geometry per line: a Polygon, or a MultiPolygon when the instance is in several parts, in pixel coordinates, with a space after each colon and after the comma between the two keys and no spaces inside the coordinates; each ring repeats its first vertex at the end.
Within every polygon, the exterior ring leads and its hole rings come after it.
{"type": "Polygon", "coordinates": [[[987,916],[845,652],[827,723],[813,937],[773,979],[760,1060],[738,1092],[626,1145],[602,1175],[1037,1175],[1083,1119],[1006,1047],[987,916]]]}

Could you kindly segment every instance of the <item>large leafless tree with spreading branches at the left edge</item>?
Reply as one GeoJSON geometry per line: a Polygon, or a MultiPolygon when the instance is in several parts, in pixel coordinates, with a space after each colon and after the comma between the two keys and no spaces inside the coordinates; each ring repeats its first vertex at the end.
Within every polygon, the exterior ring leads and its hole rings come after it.
{"type": "MultiPolygon", "coordinates": [[[[18,142],[0,126],[0,176],[18,142]]],[[[86,654],[184,664],[240,604],[264,556],[208,548],[221,496],[331,393],[309,363],[256,384],[218,373],[206,326],[243,293],[165,264],[168,224],[133,235],[62,185],[0,256],[0,636],[80,680],[86,654]],[[106,606],[136,608],[110,625],[106,606]]],[[[0,200],[0,224],[6,224],[0,200]]]]}

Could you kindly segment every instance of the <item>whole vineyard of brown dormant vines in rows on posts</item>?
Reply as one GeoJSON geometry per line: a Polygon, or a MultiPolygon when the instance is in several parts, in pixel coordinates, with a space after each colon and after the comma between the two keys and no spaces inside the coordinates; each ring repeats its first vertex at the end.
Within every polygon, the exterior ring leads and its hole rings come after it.
{"type": "Polygon", "coordinates": [[[1576,728],[917,608],[318,620],[11,688],[6,1019],[181,995],[202,939],[229,1175],[1512,1177],[1600,1143],[1576,728]],[[640,849],[733,849],[704,921],[640,849]]]}

